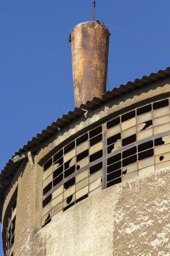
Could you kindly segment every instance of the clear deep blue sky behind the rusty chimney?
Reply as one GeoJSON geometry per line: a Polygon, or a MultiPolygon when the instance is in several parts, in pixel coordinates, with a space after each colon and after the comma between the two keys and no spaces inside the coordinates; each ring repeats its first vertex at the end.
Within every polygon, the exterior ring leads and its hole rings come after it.
{"type": "MultiPolygon", "coordinates": [[[[56,121],[71,29],[92,20],[93,0],[0,3],[0,169],[56,121]]],[[[170,2],[96,0],[96,20],[170,48],[170,2]]],[[[170,65],[170,50],[108,27],[110,89],[170,65]]],[[[71,46],[60,117],[74,110],[71,46]]],[[[1,244],[1,241],[0,241],[1,244]]],[[[3,251],[0,248],[0,256],[3,251]]]]}

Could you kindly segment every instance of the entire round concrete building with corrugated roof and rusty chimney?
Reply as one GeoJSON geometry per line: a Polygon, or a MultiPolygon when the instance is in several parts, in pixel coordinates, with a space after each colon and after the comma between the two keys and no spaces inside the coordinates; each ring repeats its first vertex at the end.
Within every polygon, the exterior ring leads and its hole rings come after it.
{"type": "Polygon", "coordinates": [[[170,256],[170,67],[105,92],[108,29],[71,32],[76,108],[0,174],[6,256],[170,256]]]}

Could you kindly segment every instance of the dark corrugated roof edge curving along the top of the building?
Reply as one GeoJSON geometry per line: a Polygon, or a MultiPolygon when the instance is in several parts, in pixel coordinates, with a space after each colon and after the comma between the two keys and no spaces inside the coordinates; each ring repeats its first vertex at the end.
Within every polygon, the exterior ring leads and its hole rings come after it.
{"type": "MultiPolygon", "coordinates": [[[[159,70],[157,73],[151,73],[149,76],[143,76],[142,79],[135,79],[134,82],[128,81],[127,84],[121,84],[119,88],[113,88],[111,91],[107,91],[105,94],[102,94],[102,99],[94,97],[91,101],[87,101],[85,104],[81,104],[79,108],[74,108],[74,111],[69,111],[68,114],[63,114],[62,118],[58,118],[56,122],[52,122],[51,125],[48,125],[45,130],[42,130],[41,133],[38,133],[36,137],[33,137],[31,141],[28,141],[27,144],[23,145],[23,148],[20,148],[15,154],[9,159],[6,166],[1,171],[0,181],[5,180],[8,177],[11,177],[20,162],[13,163],[12,158],[24,151],[31,149],[35,145],[45,141],[50,137],[54,132],[65,126],[68,122],[71,122],[77,116],[81,116],[85,111],[95,108],[96,106],[101,105],[104,102],[107,102],[110,99],[113,99],[116,96],[119,96],[123,93],[127,93],[130,90],[136,89],[146,84],[150,84],[154,81],[158,81],[159,79],[166,78],[170,76],[170,67],[167,67],[165,70],[159,70]]],[[[4,189],[3,189],[4,190],[4,189]]],[[[3,192],[1,196],[0,191],[0,200],[3,198],[3,192]]],[[[1,208],[0,208],[1,215],[1,208]]],[[[1,217],[0,217],[1,218],[1,217]]]]}

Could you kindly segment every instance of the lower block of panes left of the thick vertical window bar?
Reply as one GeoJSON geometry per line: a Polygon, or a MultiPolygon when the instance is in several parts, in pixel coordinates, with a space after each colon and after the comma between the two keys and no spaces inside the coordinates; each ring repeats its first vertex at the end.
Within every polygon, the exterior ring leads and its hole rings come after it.
{"type": "Polygon", "coordinates": [[[88,195],[92,195],[96,189],[102,190],[102,162],[80,172],[67,183],[66,187],[61,185],[50,195],[50,201],[42,209],[42,226],[49,222],[49,216],[51,218],[65,211],[88,195]]]}

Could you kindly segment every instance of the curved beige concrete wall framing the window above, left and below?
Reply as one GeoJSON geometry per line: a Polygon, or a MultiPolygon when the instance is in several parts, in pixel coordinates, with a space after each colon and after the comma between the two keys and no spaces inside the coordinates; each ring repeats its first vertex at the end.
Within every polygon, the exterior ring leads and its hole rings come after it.
{"type": "MultiPolygon", "coordinates": [[[[116,97],[105,105],[88,111],[62,128],[59,133],[51,136],[36,153],[34,166],[23,160],[6,191],[3,206],[4,223],[8,215],[8,203],[18,186],[14,255],[141,256],[145,253],[143,256],[147,256],[160,252],[158,255],[161,256],[168,253],[167,216],[169,218],[170,211],[167,205],[168,170],[153,172],[147,177],[138,177],[105,189],[56,216],[51,223],[40,229],[42,200],[40,165],[63,143],[79,136],[87,128],[90,129],[91,125],[103,122],[107,116],[122,113],[153,99],[161,99],[169,95],[170,79],[161,79],[116,97]],[[156,213],[153,214],[153,211],[156,213]],[[161,216],[163,222],[160,220],[161,216]],[[121,232],[121,230],[125,231],[121,232]],[[140,235],[136,232],[140,232],[140,235]],[[139,244],[140,241],[142,246],[139,244]]],[[[5,233],[4,226],[3,237],[5,233]]]]}

